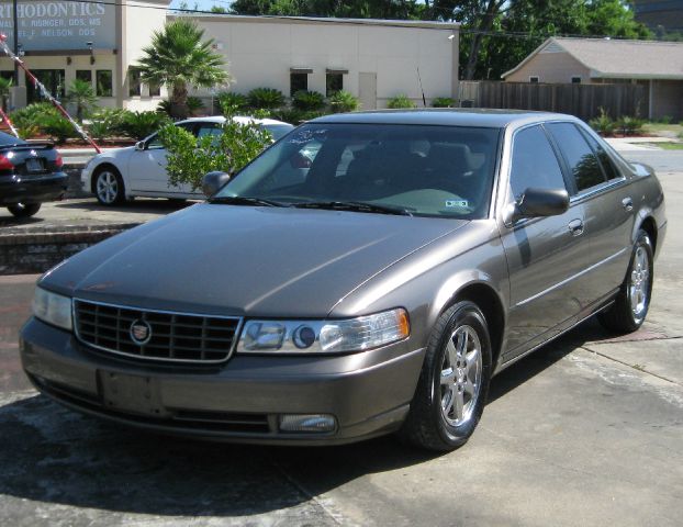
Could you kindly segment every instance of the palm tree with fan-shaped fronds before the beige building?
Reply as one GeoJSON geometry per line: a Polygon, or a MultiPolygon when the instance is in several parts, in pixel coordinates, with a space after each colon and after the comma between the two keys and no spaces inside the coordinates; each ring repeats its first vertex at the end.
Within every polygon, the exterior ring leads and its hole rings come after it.
{"type": "Polygon", "coordinates": [[[172,117],[187,117],[189,86],[212,88],[229,81],[223,57],[212,49],[213,38],[202,42],[203,36],[194,22],[178,19],[155,31],[152,45],[143,48],[141,79],[170,88],[172,117]]]}

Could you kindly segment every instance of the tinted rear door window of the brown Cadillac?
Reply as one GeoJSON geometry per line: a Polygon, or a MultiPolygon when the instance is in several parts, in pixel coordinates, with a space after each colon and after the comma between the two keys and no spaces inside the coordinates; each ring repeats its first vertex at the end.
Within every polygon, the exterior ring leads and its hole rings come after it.
{"type": "Polygon", "coordinates": [[[575,125],[572,123],[551,123],[547,126],[555,136],[560,150],[562,150],[579,191],[605,181],[597,158],[575,125]]]}

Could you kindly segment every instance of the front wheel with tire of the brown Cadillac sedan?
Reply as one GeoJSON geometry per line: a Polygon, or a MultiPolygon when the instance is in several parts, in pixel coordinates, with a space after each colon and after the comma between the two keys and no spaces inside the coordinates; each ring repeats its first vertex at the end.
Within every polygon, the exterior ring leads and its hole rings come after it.
{"type": "Polygon", "coordinates": [[[472,302],[458,302],[434,326],[400,437],[441,452],[464,445],[484,410],[490,379],[486,319],[472,302]]]}

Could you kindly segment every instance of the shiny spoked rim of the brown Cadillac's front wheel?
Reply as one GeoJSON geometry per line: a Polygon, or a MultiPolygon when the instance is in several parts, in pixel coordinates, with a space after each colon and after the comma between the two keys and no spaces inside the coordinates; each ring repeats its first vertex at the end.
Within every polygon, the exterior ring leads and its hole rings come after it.
{"type": "Polygon", "coordinates": [[[471,326],[458,327],[448,339],[441,365],[441,414],[451,426],[471,417],[482,374],[481,343],[471,326]]]}

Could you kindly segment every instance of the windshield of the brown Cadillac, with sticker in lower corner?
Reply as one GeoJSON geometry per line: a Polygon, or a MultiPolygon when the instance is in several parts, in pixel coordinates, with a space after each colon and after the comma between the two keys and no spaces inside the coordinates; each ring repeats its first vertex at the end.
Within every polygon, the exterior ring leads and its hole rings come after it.
{"type": "Polygon", "coordinates": [[[489,210],[499,137],[497,128],[306,124],[214,200],[480,218],[489,210]]]}

